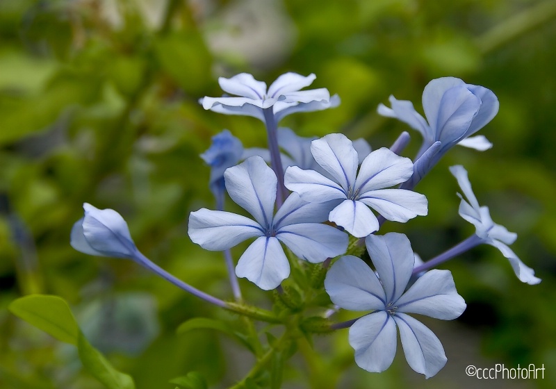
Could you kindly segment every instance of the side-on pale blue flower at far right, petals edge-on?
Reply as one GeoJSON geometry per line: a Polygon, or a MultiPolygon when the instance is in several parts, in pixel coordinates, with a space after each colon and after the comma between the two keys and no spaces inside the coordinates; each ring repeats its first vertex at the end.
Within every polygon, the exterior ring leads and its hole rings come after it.
{"type": "Polygon", "coordinates": [[[456,165],[450,167],[450,172],[457,179],[461,191],[464,192],[468,200],[465,201],[458,193],[458,196],[461,198],[459,215],[475,226],[475,235],[477,236],[476,244],[485,243],[486,245],[491,245],[499,249],[502,255],[509,260],[509,264],[512,265],[512,269],[521,282],[530,285],[541,282],[541,279],[534,276],[534,270],[521,262],[521,259],[519,259],[514,251],[507,246],[512,245],[512,243],[516,241],[517,234],[509,232],[504,226],[500,226],[500,224],[493,222],[489,207],[479,206],[477,197],[475,197],[473,189],[471,188],[467,170],[461,165],[456,165]]]}

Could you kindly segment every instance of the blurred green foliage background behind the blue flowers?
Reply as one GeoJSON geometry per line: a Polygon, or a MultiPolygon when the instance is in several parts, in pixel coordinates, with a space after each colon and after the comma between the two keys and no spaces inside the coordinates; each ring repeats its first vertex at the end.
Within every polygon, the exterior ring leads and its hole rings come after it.
{"type": "MultiPolygon", "coordinates": [[[[390,94],[414,102],[433,78],[456,76],[493,90],[500,112],[480,134],[486,152],[456,148],[417,187],[429,215],[384,231],[407,233],[427,260],[474,232],[459,217],[448,166],[468,169],[480,204],[518,233],[512,249],[536,271],[522,284],[493,247],[452,270],[468,308],[427,321],[448,364],[425,381],[401,347],[382,374],[360,370],[347,330],[300,350],[285,388],[553,388],[556,382],[556,2],[553,0],[0,0],[0,387],[101,388],[61,345],[8,313],[29,293],[67,299],[93,345],[138,389],[170,388],[195,370],[211,388],[242,378],[252,356],[224,336],[178,336],[191,317],[226,314],[140,269],[69,245],[83,202],[113,208],[139,249],[184,281],[231,299],[220,253],[190,242],[190,211],[214,208],[199,154],[229,129],[264,147],[251,117],[204,111],[218,76],[250,72],[268,85],[288,71],[315,73],[334,110],[291,115],[298,134],[345,133],[373,149],[401,131],[379,117],[390,94]],[[467,365],[544,364],[544,379],[480,381],[467,365]]],[[[236,253],[237,254],[237,253],[236,253]]],[[[236,259],[238,256],[236,255],[236,259]]],[[[244,295],[270,295],[245,280],[244,295]]]]}

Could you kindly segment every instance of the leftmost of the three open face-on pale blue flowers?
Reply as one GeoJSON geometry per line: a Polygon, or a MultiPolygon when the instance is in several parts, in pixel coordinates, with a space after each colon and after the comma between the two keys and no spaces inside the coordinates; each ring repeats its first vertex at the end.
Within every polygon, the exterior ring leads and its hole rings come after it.
{"type": "Polygon", "coordinates": [[[277,178],[263,158],[253,156],[224,173],[232,200],[254,220],[218,210],[192,212],[188,234],[201,247],[220,251],[249,238],[256,240],[245,250],[236,275],[263,290],[277,288],[290,274],[288,258],[280,242],[293,254],[311,263],[345,253],[347,235],[326,224],[329,204],[309,204],[295,193],[273,215],[277,178]]]}

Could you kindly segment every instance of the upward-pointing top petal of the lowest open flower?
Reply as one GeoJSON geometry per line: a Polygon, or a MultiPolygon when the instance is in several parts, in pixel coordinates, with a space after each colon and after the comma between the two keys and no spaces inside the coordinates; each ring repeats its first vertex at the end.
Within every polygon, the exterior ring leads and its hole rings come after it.
{"type": "Polygon", "coordinates": [[[404,292],[415,264],[411,243],[402,233],[368,235],[365,244],[386,292],[386,304],[393,303],[404,292]]]}

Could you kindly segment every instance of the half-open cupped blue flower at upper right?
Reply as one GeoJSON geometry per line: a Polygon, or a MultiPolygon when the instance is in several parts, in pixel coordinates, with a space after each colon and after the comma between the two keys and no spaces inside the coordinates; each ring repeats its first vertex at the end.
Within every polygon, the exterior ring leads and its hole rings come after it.
{"type": "Polygon", "coordinates": [[[397,100],[391,96],[390,102],[392,108],[380,104],[378,113],[386,117],[395,117],[423,135],[423,146],[418,156],[434,142],[442,142],[432,165],[455,144],[477,150],[492,147],[484,136],[468,138],[482,129],[498,113],[498,99],[489,89],[466,84],[454,77],[432,80],[423,90],[423,110],[428,123],[417,113],[411,101],[397,100]]]}

